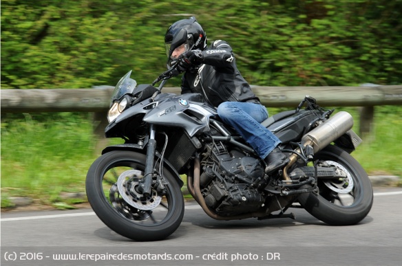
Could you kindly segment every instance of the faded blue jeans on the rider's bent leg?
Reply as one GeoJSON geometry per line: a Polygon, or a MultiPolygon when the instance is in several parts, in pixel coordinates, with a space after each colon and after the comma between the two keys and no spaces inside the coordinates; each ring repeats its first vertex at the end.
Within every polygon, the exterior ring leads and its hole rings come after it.
{"type": "Polygon", "coordinates": [[[262,104],[222,102],[218,106],[218,115],[251,145],[261,159],[281,143],[271,131],[260,124],[268,118],[268,111],[262,104]]]}

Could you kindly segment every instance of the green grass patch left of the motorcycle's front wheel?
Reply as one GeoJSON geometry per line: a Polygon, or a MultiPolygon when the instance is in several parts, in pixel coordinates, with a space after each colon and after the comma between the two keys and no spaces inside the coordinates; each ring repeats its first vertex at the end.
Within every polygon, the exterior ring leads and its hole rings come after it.
{"type": "Polygon", "coordinates": [[[3,120],[2,207],[4,196],[51,205],[63,201],[61,192],[84,192],[87,169],[96,158],[90,121],[74,113],[3,120]]]}

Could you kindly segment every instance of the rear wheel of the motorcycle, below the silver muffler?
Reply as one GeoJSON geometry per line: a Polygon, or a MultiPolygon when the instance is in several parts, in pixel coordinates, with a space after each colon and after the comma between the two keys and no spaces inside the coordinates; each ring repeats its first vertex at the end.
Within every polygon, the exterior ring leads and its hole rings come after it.
{"type": "Polygon", "coordinates": [[[319,179],[319,195],[301,194],[299,203],[313,217],[330,225],[354,225],[370,212],[373,192],[366,171],[349,153],[327,146],[314,157],[346,173],[347,178],[319,179]]]}

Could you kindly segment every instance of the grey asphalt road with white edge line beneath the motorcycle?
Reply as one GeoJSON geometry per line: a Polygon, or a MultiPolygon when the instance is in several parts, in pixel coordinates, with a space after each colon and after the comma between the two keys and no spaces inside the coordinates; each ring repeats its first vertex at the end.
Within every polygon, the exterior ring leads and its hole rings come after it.
{"type": "Polygon", "coordinates": [[[1,214],[1,265],[400,265],[402,188],[375,188],[359,225],[296,220],[215,221],[194,202],[165,241],[136,242],[91,209],[1,214]],[[65,259],[65,260],[64,260],[65,259]]]}

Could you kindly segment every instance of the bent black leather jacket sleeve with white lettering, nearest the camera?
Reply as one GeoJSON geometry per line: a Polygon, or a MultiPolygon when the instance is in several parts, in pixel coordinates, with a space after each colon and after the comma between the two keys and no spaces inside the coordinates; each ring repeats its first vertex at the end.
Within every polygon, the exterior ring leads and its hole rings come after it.
{"type": "Polygon", "coordinates": [[[217,40],[213,42],[209,49],[202,51],[203,60],[205,65],[212,65],[214,67],[233,68],[232,48],[226,41],[217,40]]]}

